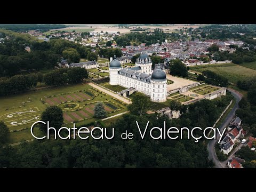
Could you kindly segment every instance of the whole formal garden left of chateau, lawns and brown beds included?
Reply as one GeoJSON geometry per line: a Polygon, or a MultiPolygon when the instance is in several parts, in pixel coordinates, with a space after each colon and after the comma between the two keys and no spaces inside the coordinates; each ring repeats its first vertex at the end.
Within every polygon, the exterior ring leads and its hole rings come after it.
{"type": "MultiPolygon", "coordinates": [[[[33,139],[30,126],[41,119],[47,106],[58,105],[63,111],[65,126],[69,127],[71,122],[77,122],[78,127],[97,121],[93,117],[93,107],[98,101],[103,102],[108,112],[107,117],[127,110],[122,102],[90,85],[65,85],[1,97],[0,121],[10,129],[10,143],[20,142],[33,139]]],[[[36,136],[42,135],[38,128],[34,130],[36,136]]]]}

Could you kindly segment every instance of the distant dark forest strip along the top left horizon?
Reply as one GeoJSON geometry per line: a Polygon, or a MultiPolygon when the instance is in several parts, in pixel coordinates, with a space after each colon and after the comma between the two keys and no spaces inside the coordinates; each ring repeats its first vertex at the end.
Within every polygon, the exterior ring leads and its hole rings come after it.
{"type": "Polygon", "coordinates": [[[17,31],[26,32],[28,30],[40,30],[42,32],[49,31],[50,29],[61,29],[66,28],[66,25],[62,24],[0,24],[0,28],[17,31]]]}

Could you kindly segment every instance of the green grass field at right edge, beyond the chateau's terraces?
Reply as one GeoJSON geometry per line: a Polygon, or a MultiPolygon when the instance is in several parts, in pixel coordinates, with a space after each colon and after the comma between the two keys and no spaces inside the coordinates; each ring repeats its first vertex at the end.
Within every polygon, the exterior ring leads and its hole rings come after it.
{"type": "Polygon", "coordinates": [[[204,70],[211,70],[218,75],[221,75],[223,77],[227,77],[229,82],[231,83],[237,83],[237,81],[244,81],[246,79],[252,78],[256,76],[256,70],[235,65],[233,63],[228,64],[220,64],[218,66],[195,66],[190,67],[191,70],[202,72],[204,70]]]}

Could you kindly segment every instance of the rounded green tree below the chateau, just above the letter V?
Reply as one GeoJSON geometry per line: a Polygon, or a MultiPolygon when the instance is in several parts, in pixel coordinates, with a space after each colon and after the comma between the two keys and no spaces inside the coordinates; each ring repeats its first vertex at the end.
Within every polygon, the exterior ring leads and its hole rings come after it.
{"type": "Polygon", "coordinates": [[[134,115],[145,114],[151,106],[150,98],[145,94],[136,92],[132,97],[132,104],[128,106],[128,109],[134,115]]]}

